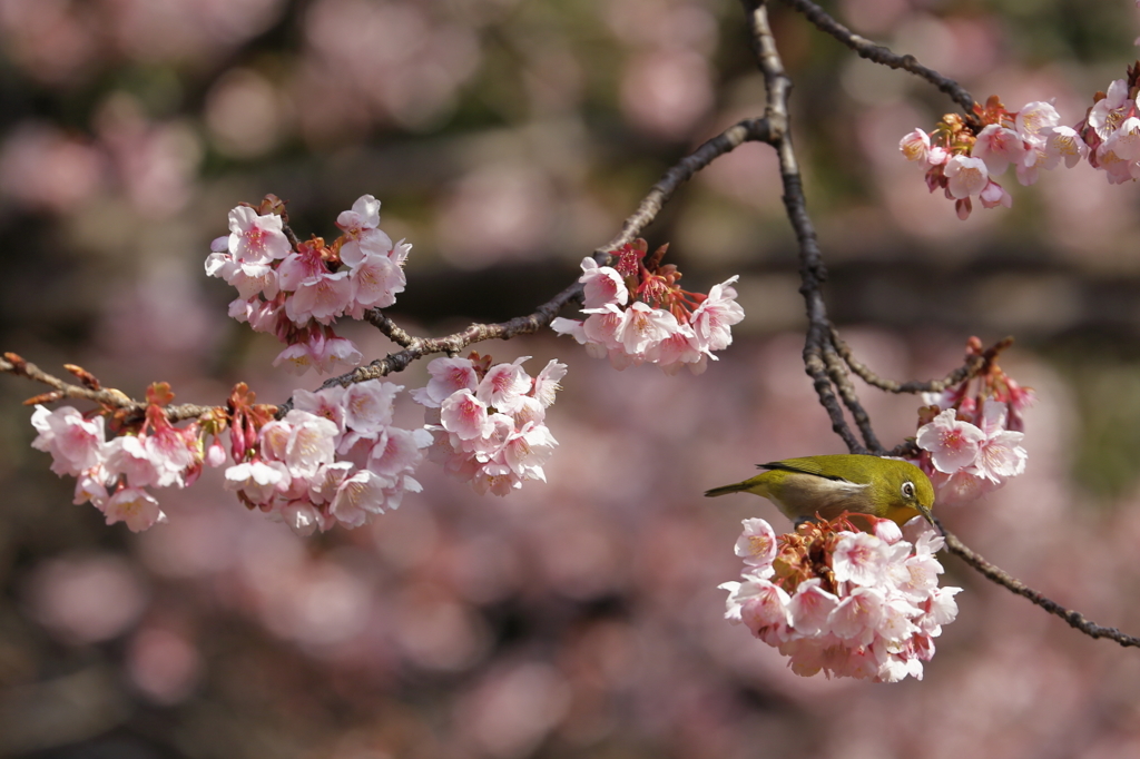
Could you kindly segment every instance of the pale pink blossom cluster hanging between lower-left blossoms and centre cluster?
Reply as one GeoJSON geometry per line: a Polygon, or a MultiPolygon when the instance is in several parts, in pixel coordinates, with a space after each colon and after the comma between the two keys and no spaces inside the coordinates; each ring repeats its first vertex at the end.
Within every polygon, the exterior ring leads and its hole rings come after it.
{"type": "Polygon", "coordinates": [[[438,358],[427,365],[427,385],[412,391],[429,409],[429,458],[479,493],[506,496],[527,480],[546,481],[543,465],[559,444],[546,427],[546,408],[567,366],[552,359],[531,377],[522,368],[528,358],[495,366],[478,353],[438,358]]]}

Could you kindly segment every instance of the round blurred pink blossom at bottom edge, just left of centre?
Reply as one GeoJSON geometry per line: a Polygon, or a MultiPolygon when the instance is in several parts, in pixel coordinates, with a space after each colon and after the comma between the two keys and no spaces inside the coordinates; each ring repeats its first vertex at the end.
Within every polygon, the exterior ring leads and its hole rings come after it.
{"type": "Polygon", "coordinates": [[[557,726],[569,704],[562,675],[549,664],[528,662],[488,674],[461,699],[456,718],[481,753],[526,757],[557,726]]]}

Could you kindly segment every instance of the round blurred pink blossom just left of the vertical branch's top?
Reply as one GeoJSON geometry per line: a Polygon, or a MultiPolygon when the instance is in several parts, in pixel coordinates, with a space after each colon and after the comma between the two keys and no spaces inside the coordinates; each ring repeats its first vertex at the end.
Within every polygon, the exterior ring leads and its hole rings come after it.
{"type": "Polygon", "coordinates": [[[637,129],[666,139],[687,137],[714,105],[703,56],[686,50],[636,55],[621,75],[621,111],[637,129]]]}

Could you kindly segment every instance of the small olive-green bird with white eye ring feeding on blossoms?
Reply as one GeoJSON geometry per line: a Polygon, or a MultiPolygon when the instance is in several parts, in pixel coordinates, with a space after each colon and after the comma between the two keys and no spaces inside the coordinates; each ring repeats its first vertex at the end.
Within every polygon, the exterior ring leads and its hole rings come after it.
{"type": "Polygon", "coordinates": [[[909,462],[858,454],[807,456],[760,464],[763,474],[712,488],[706,496],[755,492],[775,504],[797,525],[839,516],[844,511],[873,514],[905,524],[919,514],[934,524],[934,485],[909,462]]]}

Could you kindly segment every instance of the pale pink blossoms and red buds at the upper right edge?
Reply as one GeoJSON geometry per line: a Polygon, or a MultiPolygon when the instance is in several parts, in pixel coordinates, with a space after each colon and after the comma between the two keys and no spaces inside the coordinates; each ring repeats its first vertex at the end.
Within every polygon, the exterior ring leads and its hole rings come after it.
{"type": "Polygon", "coordinates": [[[1140,62],[1126,79],[1097,92],[1084,119],[1067,126],[1051,103],[1007,111],[996,96],[975,105],[971,117],[947,114],[931,133],[907,133],[898,148],[907,161],[927,166],[930,191],[943,189],[958,215],[970,215],[972,199],[986,209],[1009,207],[1012,198],[994,180],[1012,165],[1021,185],[1060,162],[1072,169],[1086,160],[1112,185],[1140,179],[1140,62]]]}

